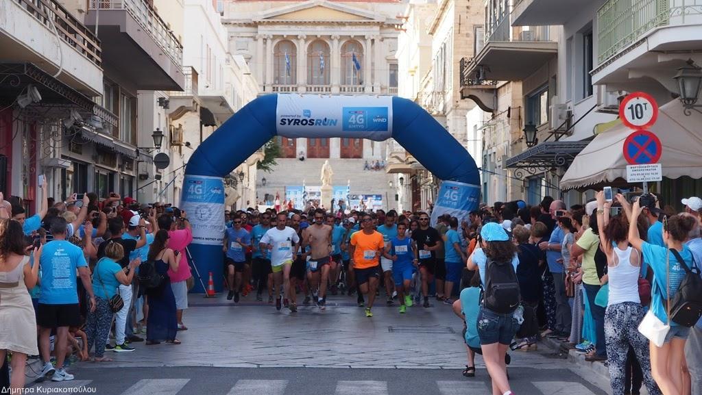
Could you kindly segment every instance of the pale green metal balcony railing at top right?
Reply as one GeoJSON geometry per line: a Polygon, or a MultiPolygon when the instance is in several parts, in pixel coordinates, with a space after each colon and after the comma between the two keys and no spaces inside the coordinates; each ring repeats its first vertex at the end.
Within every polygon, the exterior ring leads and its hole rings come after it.
{"type": "Polygon", "coordinates": [[[702,24],[702,0],[609,0],[597,10],[597,62],[602,64],[646,32],[702,24]]]}

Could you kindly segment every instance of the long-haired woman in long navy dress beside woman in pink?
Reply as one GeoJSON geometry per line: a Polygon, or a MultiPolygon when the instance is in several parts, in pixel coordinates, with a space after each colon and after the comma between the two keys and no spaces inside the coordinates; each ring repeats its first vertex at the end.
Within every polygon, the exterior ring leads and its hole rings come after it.
{"type": "Polygon", "coordinates": [[[161,229],[154,235],[149,248],[148,260],[153,262],[156,273],[161,276],[161,283],[147,290],[149,316],[146,321],[146,345],[166,343],[180,344],[176,339],[178,318],[176,317],[176,297],[168,279],[168,269],[177,272],[183,256],[168,248],[168,231],[161,229]]]}

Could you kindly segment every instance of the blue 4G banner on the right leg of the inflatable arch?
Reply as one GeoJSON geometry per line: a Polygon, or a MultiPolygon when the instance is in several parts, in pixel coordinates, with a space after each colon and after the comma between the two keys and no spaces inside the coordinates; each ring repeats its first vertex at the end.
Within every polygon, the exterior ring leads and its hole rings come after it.
{"type": "Polygon", "coordinates": [[[472,210],[477,210],[480,204],[480,187],[464,182],[444,181],[439,189],[439,195],[432,210],[432,226],[436,225],[439,215],[449,214],[462,220],[468,218],[472,210]]]}

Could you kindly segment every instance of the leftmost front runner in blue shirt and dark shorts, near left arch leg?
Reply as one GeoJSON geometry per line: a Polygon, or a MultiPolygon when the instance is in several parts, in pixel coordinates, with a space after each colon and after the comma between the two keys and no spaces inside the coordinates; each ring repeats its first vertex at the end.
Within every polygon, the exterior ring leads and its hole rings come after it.
{"type": "Polygon", "coordinates": [[[243,219],[236,214],[232,220],[234,227],[225,229],[224,248],[227,253],[225,259],[227,263],[227,283],[229,293],[227,300],[234,298],[234,303],[239,302],[239,289],[241,288],[241,276],[246,270],[246,249],[251,246],[251,234],[243,229],[243,219]]]}

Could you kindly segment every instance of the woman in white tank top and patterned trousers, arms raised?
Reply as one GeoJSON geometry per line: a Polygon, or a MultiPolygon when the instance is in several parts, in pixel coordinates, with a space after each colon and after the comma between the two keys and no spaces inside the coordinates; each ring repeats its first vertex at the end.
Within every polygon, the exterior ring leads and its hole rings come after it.
{"type": "Polygon", "coordinates": [[[604,229],[600,232],[600,246],[607,255],[607,276],[602,279],[609,283],[607,310],[604,312],[604,341],[607,344],[612,394],[624,394],[627,354],[629,347],[632,347],[649,394],[658,395],[661,390],[651,376],[649,342],[637,329],[644,319],[644,307],[639,297],[641,255],[629,246],[627,218],[624,214],[610,218],[610,207],[611,203],[604,201],[604,193],[597,192],[597,225],[599,229],[604,229]]]}

